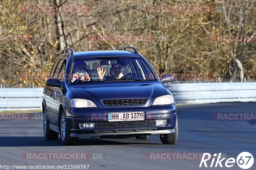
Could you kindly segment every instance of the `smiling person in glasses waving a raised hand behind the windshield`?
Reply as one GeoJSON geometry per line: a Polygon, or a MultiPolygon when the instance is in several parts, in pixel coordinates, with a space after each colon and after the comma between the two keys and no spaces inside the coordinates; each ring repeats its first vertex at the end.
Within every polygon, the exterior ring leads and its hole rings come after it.
{"type": "MultiPolygon", "coordinates": [[[[116,64],[112,64],[110,70],[114,73],[114,76],[112,76],[113,79],[120,79],[124,75],[126,75],[126,74],[122,73],[122,71],[124,70],[124,66],[120,60],[116,60],[116,64]]],[[[105,69],[105,71],[103,71],[103,66],[101,66],[101,67],[99,66],[97,68],[97,71],[98,71],[99,79],[102,80],[106,73],[106,69],[105,69]]]]}

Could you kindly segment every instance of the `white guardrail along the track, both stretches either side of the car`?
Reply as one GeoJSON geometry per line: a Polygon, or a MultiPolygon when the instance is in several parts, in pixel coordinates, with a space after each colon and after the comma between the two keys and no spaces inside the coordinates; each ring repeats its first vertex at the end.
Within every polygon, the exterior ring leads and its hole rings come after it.
{"type": "MultiPolygon", "coordinates": [[[[176,103],[256,101],[256,82],[170,83],[165,86],[172,92],[176,103]]],[[[43,88],[0,88],[0,111],[41,109],[43,90],[43,88]]]]}

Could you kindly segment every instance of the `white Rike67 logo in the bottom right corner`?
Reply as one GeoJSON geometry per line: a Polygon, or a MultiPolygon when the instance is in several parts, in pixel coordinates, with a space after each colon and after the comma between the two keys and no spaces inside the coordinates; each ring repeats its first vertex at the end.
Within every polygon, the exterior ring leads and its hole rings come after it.
{"type": "MultiPolygon", "coordinates": [[[[212,159],[212,162],[211,162],[210,167],[218,167],[218,166],[223,167],[222,163],[224,164],[224,160],[225,160],[226,158],[220,159],[220,158],[221,158],[221,153],[219,153],[218,156],[217,156],[217,153],[214,153],[214,154],[213,154],[213,158],[211,158],[211,156],[212,156],[212,155],[211,155],[210,153],[204,153],[204,154],[203,154],[203,157],[202,157],[202,159],[201,159],[201,162],[200,162],[199,167],[202,167],[203,163],[204,163],[204,167],[208,167],[209,164],[208,164],[208,166],[207,166],[207,163],[206,163],[206,162],[207,162],[208,160],[210,160],[210,159],[212,159]],[[205,157],[206,157],[206,159],[205,159],[205,157]],[[216,160],[216,162],[215,162],[215,159],[216,159],[216,158],[217,158],[217,160],[216,160]],[[223,161],[223,162],[222,162],[222,161],[223,161]],[[215,162],[215,166],[214,166],[214,162],[215,162]]],[[[228,167],[228,168],[230,168],[230,167],[234,166],[234,163],[236,163],[240,168],[242,168],[242,169],[248,169],[248,168],[252,167],[253,162],[254,162],[254,158],[253,158],[253,156],[252,156],[251,153],[249,153],[249,152],[242,152],[242,153],[240,153],[240,154],[236,157],[236,159],[235,159],[235,158],[228,158],[228,159],[225,161],[225,166],[228,167]]]]}

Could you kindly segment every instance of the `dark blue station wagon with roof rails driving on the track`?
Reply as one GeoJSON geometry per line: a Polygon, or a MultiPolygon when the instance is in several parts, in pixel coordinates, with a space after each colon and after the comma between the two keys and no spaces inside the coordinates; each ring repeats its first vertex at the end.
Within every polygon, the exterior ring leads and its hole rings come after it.
{"type": "Polygon", "coordinates": [[[79,137],[147,139],[163,144],[178,140],[178,118],[172,93],[134,47],[73,52],[55,61],[44,86],[44,137],[64,145],[79,137]]]}

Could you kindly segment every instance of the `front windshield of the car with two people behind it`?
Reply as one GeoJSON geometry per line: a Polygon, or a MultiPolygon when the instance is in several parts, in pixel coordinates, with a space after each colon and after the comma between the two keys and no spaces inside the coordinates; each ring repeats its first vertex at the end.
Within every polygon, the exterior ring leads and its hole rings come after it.
{"type": "Polygon", "coordinates": [[[140,57],[77,59],[71,71],[71,83],[152,80],[156,75],[140,57]]]}

